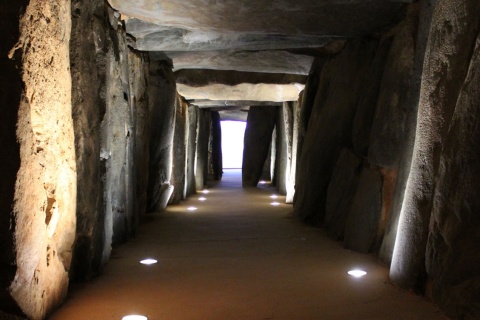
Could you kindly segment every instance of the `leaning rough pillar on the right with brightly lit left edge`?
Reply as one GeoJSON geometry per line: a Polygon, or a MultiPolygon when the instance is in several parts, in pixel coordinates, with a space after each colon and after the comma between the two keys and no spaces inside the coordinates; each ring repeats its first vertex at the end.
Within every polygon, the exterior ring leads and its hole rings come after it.
{"type": "Polygon", "coordinates": [[[402,287],[422,291],[425,284],[425,250],[440,154],[479,32],[479,10],[480,3],[474,0],[441,0],[434,5],[412,166],[390,269],[390,277],[402,287]]]}

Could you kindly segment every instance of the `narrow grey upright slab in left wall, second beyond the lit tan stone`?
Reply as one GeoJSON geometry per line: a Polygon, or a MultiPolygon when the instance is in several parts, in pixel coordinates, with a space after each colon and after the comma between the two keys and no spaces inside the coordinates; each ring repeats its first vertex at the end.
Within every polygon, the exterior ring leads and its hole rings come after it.
{"type": "MultiPolygon", "coordinates": [[[[111,13],[111,11],[109,11],[111,13]]],[[[134,195],[129,192],[133,177],[130,163],[133,119],[129,105],[128,48],[125,31],[110,21],[108,32],[106,113],[102,120],[100,157],[105,161],[105,227],[103,263],[110,258],[112,245],[120,244],[133,234],[134,195]]]]}

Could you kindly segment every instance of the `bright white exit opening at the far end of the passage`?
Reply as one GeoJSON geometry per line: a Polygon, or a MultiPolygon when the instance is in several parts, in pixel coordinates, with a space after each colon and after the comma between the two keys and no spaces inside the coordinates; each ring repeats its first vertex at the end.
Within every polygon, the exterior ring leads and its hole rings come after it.
{"type": "Polygon", "coordinates": [[[244,121],[221,121],[222,126],[222,161],[224,169],[242,168],[244,121]]]}

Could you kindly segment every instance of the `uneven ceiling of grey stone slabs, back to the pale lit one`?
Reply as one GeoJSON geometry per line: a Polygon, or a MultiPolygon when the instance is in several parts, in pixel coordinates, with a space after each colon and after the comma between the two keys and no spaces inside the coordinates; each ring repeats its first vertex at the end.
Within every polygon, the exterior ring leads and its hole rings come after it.
{"type": "MultiPolygon", "coordinates": [[[[392,25],[409,0],[109,0],[125,20],[130,45],[166,57],[175,71],[203,72],[198,83],[179,81],[193,104],[225,107],[239,101],[297,100],[304,80],[262,80],[262,73],[307,75],[316,55],[341,49],[344,40],[392,25]],[[226,83],[218,72],[242,71],[226,83]],[[205,103],[205,100],[210,103],[205,103]]],[[[177,72],[178,73],[178,72],[177,72]]],[[[303,79],[306,79],[305,77],[303,79]]]]}

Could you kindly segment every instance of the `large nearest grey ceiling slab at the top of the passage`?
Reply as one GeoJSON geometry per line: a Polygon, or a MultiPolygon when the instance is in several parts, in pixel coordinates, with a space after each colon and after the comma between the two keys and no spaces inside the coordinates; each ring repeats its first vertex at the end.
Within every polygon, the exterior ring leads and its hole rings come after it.
{"type": "Polygon", "coordinates": [[[109,2],[137,18],[127,20],[127,30],[138,48],[158,51],[321,47],[332,35],[358,37],[386,27],[404,6],[382,0],[109,2]]]}

